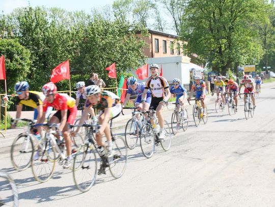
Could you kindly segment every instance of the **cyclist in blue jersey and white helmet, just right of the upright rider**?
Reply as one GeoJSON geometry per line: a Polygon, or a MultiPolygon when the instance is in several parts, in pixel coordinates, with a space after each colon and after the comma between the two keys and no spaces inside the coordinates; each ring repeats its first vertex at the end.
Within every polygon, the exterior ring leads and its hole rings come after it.
{"type": "Polygon", "coordinates": [[[180,84],[180,79],[174,78],[173,79],[173,86],[170,88],[170,93],[176,95],[176,103],[180,103],[183,112],[183,119],[187,119],[187,114],[185,112],[184,103],[187,99],[187,91],[186,89],[180,84]]]}

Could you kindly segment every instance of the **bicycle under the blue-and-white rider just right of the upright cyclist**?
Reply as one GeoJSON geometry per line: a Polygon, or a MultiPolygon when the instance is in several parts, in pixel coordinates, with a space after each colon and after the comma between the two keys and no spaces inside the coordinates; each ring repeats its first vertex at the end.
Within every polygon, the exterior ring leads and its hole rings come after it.
{"type": "Polygon", "coordinates": [[[174,109],[174,112],[172,113],[171,128],[172,128],[173,134],[176,135],[180,128],[182,128],[183,131],[187,130],[187,128],[188,128],[188,113],[187,113],[186,108],[184,108],[185,114],[187,116],[187,119],[184,119],[183,109],[182,109],[180,103],[173,103],[173,104],[175,104],[175,109],[174,109]]]}

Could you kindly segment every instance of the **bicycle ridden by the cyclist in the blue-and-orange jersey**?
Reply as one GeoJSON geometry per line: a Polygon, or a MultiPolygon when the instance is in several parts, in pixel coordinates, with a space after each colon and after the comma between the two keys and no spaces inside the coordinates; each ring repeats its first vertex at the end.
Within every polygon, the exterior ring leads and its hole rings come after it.
{"type": "Polygon", "coordinates": [[[203,120],[204,124],[206,124],[208,120],[208,111],[207,111],[206,105],[205,105],[205,108],[203,109],[200,103],[200,99],[189,99],[187,101],[189,104],[190,104],[189,101],[195,101],[195,104],[193,106],[193,119],[196,127],[200,125],[201,120],[203,120]],[[204,112],[205,112],[205,116],[203,115],[204,112]]]}

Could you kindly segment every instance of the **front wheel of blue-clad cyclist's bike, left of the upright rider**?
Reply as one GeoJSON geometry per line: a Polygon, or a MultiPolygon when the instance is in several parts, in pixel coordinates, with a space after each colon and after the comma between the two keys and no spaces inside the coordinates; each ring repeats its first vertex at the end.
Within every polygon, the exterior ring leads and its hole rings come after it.
{"type": "Polygon", "coordinates": [[[132,119],[127,122],[124,136],[127,147],[130,150],[134,149],[139,138],[139,125],[137,122],[132,119]]]}

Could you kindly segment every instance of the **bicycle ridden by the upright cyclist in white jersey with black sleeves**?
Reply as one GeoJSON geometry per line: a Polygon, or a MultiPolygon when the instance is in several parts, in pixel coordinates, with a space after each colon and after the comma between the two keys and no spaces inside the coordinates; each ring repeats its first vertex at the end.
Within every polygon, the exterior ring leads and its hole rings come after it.
{"type": "MultiPolygon", "coordinates": [[[[156,123],[156,118],[154,117],[154,114],[156,111],[150,109],[148,111],[142,112],[144,114],[148,114],[148,120],[154,119],[156,123]]],[[[171,131],[169,124],[166,120],[164,121],[164,133],[165,137],[163,139],[159,139],[159,132],[156,131],[156,127],[153,127],[151,122],[146,122],[145,125],[143,125],[140,133],[140,144],[142,153],[146,158],[151,158],[155,152],[155,146],[161,145],[162,149],[164,151],[168,151],[171,147],[171,131]]],[[[157,123],[155,124],[157,125],[157,123]]]]}

